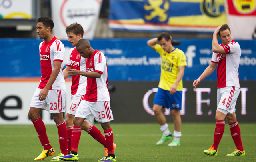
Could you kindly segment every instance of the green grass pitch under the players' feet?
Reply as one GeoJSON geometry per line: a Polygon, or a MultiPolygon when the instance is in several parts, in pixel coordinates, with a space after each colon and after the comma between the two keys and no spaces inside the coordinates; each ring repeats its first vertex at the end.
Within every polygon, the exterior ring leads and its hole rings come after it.
{"type": "MultiPolygon", "coordinates": [[[[173,132],[173,124],[169,129],[173,132]]],[[[102,131],[100,124],[94,124],[102,131]]],[[[256,161],[256,124],[239,123],[242,143],[246,156],[229,157],[226,154],[236,148],[230,129],[226,123],[224,135],[218,147],[218,156],[205,156],[213,143],[215,123],[183,123],[180,146],[167,146],[171,140],[156,146],[162,132],[156,123],[111,124],[114,132],[115,155],[118,162],[199,162],[199,161],[256,161]]],[[[58,130],[54,125],[46,125],[54,156],[60,153],[58,130]]],[[[103,133],[103,131],[102,131],[103,133]]],[[[33,125],[0,125],[0,162],[33,162],[43,148],[33,125]]],[[[96,162],[104,156],[104,147],[89,134],[82,131],[78,148],[80,162],[96,162]]],[[[50,161],[52,157],[45,158],[50,161]]]]}

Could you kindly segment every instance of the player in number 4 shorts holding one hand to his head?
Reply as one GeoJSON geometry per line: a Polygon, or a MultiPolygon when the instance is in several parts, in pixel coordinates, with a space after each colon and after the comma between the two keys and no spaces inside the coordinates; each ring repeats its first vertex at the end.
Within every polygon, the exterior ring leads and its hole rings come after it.
{"type": "Polygon", "coordinates": [[[204,154],[217,156],[218,145],[222,138],[226,118],[231,136],[236,145],[236,149],[227,156],[244,156],[245,151],[242,146],[241,131],[236,120],[236,100],[240,92],[238,67],[240,63],[241,48],[238,42],[231,39],[230,28],[227,24],[219,26],[212,39],[212,60],[210,65],[204,70],[203,74],[193,82],[194,88],[207,76],[212,74],[217,66],[217,110],[216,110],[216,128],[214,132],[213,145],[204,154]],[[222,44],[218,44],[218,38],[222,44]]]}

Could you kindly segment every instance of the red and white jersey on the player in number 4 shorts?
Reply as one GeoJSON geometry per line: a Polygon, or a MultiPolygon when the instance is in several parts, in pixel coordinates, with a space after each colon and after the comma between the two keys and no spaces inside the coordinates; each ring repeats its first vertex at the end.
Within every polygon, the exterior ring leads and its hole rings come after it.
{"type": "Polygon", "coordinates": [[[212,54],[211,62],[217,63],[217,88],[236,86],[240,88],[238,68],[240,63],[241,48],[238,42],[232,40],[230,44],[220,44],[225,54],[212,54]]]}

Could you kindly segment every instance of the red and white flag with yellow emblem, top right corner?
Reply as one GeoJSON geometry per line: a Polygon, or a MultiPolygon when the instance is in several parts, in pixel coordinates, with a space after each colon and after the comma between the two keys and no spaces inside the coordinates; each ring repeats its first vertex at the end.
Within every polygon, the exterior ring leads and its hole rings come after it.
{"type": "Polygon", "coordinates": [[[256,0],[225,0],[232,39],[256,38],[256,0]]]}

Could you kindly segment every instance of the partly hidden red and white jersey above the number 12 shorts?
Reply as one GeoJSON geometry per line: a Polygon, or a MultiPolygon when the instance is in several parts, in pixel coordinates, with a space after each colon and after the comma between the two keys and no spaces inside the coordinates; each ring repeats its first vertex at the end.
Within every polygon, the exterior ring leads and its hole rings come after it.
{"type": "MultiPolygon", "coordinates": [[[[86,58],[80,56],[77,52],[76,47],[71,48],[68,54],[67,66],[71,69],[76,69],[79,71],[85,71],[86,69],[86,58]]],[[[87,77],[82,75],[72,76],[71,84],[71,95],[86,93],[87,77]]]]}

